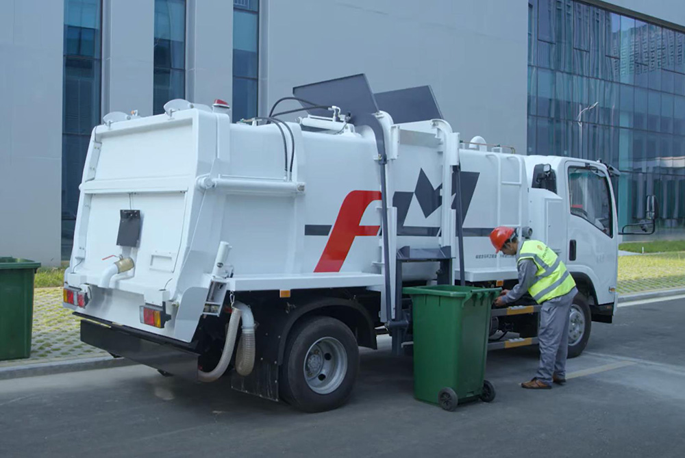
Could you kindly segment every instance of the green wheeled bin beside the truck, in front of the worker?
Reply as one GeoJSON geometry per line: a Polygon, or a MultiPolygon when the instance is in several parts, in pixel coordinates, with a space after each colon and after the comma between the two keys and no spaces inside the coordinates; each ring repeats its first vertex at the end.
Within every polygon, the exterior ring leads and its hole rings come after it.
{"type": "Polygon", "coordinates": [[[412,297],[414,397],[454,410],[495,399],[485,377],[490,307],[501,288],[431,285],[403,288],[412,297]]]}

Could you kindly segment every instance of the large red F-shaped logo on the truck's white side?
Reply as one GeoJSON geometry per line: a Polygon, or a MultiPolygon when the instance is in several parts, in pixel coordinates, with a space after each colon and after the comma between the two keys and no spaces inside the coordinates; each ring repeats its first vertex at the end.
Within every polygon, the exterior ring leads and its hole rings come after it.
{"type": "Polygon", "coordinates": [[[347,194],[314,272],[340,272],[354,238],[377,235],[379,226],[360,226],[359,223],[366,207],[380,199],[379,191],[352,191],[347,194]]]}

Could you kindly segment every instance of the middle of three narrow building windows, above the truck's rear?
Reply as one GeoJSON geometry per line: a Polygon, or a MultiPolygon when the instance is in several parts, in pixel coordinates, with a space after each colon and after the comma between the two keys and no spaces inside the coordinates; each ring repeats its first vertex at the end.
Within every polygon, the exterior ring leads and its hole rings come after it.
{"type": "Polygon", "coordinates": [[[153,114],[186,95],[186,0],[155,0],[153,114]]]}

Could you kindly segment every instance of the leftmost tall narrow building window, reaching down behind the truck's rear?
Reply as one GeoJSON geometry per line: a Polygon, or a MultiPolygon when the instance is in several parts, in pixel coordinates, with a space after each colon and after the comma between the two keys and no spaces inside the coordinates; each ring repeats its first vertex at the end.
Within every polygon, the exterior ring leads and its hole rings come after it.
{"type": "Polygon", "coordinates": [[[64,1],[62,257],[68,258],[90,132],[100,122],[101,0],[64,1]]]}

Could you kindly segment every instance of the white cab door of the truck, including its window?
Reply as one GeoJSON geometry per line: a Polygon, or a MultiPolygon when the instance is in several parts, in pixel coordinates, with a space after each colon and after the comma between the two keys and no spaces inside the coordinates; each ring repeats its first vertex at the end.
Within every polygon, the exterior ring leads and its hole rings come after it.
{"type": "Polygon", "coordinates": [[[599,307],[615,305],[616,300],[619,233],[614,193],[606,168],[601,164],[569,161],[566,180],[568,266],[571,272],[577,272],[593,283],[597,301],[592,297],[588,297],[588,301],[593,319],[597,320],[602,311],[610,316],[615,308],[599,307]]]}

